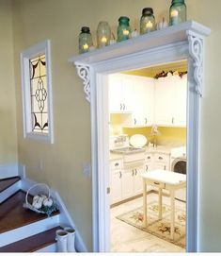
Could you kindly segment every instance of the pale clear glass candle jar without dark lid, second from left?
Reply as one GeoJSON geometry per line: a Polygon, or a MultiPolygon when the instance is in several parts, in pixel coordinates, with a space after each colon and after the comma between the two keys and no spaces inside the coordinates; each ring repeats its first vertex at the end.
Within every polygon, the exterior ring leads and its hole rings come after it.
{"type": "Polygon", "coordinates": [[[97,28],[98,47],[109,45],[111,39],[111,29],[107,22],[100,22],[97,28]]]}

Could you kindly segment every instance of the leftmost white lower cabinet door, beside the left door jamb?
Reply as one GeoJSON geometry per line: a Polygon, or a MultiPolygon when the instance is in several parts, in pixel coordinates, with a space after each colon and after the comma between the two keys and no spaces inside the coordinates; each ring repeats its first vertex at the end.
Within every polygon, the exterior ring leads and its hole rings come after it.
{"type": "Polygon", "coordinates": [[[111,171],[111,204],[116,203],[122,199],[122,173],[121,171],[111,171]]]}

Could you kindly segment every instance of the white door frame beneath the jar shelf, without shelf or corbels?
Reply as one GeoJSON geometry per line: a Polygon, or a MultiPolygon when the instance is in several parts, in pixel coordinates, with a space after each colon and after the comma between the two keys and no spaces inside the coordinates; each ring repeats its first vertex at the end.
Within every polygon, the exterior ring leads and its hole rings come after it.
{"type": "Polygon", "coordinates": [[[96,64],[90,70],[91,116],[93,149],[93,207],[94,215],[94,249],[110,251],[109,237],[109,128],[108,128],[108,92],[105,78],[107,74],[133,70],[155,64],[177,60],[188,60],[188,93],[187,93],[187,251],[197,251],[197,174],[199,154],[199,103],[193,78],[193,60],[189,55],[187,42],[166,45],[135,56],[125,56],[120,60],[107,60],[96,64]],[[97,171],[95,171],[97,170],[97,171]],[[191,171],[190,171],[191,170],[191,171]]]}

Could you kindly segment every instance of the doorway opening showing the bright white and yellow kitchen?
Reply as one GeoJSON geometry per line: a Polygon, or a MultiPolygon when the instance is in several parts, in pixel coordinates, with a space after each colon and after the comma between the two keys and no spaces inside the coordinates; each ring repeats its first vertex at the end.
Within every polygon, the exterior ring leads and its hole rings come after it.
{"type": "Polygon", "coordinates": [[[107,76],[111,252],[185,251],[187,76],[187,60],[107,76]]]}

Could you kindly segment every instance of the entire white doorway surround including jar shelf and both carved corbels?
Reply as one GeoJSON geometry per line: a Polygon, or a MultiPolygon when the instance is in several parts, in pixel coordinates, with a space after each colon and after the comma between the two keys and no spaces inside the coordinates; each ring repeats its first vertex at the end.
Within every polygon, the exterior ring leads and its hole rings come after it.
{"type": "MultiPolygon", "coordinates": [[[[93,250],[110,251],[109,221],[109,74],[166,62],[188,61],[187,94],[187,223],[186,251],[198,248],[198,180],[200,179],[200,101],[203,84],[204,37],[211,29],[190,21],[169,26],[131,40],[74,56],[69,61],[83,78],[91,110],[93,250]],[[87,67],[87,68],[86,68],[87,67]]],[[[87,98],[88,100],[88,98],[87,98]]]]}

